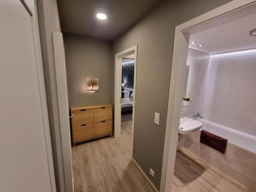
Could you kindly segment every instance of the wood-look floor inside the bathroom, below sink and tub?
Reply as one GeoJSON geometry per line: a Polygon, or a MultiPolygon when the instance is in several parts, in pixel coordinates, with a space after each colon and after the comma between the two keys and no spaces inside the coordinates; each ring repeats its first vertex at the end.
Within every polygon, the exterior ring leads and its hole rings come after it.
{"type": "Polygon", "coordinates": [[[250,191],[185,148],[177,151],[172,188],[173,192],[250,191]]]}

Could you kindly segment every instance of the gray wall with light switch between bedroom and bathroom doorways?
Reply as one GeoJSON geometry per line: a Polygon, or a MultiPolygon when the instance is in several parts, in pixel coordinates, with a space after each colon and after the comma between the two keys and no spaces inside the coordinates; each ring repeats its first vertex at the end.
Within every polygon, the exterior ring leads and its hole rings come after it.
{"type": "Polygon", "coordinates": [[[175,27],[230,0],[164,1],[114,42],[114,53],[138,45],[134,159],[160,188],[175,27]],[[160,126],[154,113],[161,114],[160,126]],[[149,174],[155,170],[155,178],[149,174]]]}

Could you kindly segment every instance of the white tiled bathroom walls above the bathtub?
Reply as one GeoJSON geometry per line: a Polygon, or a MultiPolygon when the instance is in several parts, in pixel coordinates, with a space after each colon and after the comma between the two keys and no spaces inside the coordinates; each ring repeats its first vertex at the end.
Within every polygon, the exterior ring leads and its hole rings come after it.
{"type": "Polygon", "coordinates": [[[210,56],[188,50],[184,115],[197,112],[210,121],[256,136],[256,50],[210,56]]]}

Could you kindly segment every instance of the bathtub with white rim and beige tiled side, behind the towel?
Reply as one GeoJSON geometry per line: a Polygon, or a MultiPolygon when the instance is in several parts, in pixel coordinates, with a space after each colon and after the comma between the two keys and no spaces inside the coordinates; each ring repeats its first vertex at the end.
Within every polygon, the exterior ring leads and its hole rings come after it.
{"type": "Polygon", "coordinates": [[[184,148],[256,192],[256,137],[206,119],[199,121],[202,128],[185,135],[184,148]],[[200,143],[202,130],[228,139],[225,154],[200,143]]]}

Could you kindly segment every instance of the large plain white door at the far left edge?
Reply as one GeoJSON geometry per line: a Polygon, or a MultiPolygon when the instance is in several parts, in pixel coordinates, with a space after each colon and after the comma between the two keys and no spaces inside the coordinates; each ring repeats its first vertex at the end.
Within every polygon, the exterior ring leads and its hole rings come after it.
{"type": "Polygon", "coordinates": [[[26,2],[25,8],[19,0],[0,1],[0,191],[50,192],[34,2],[26,2]]]}

